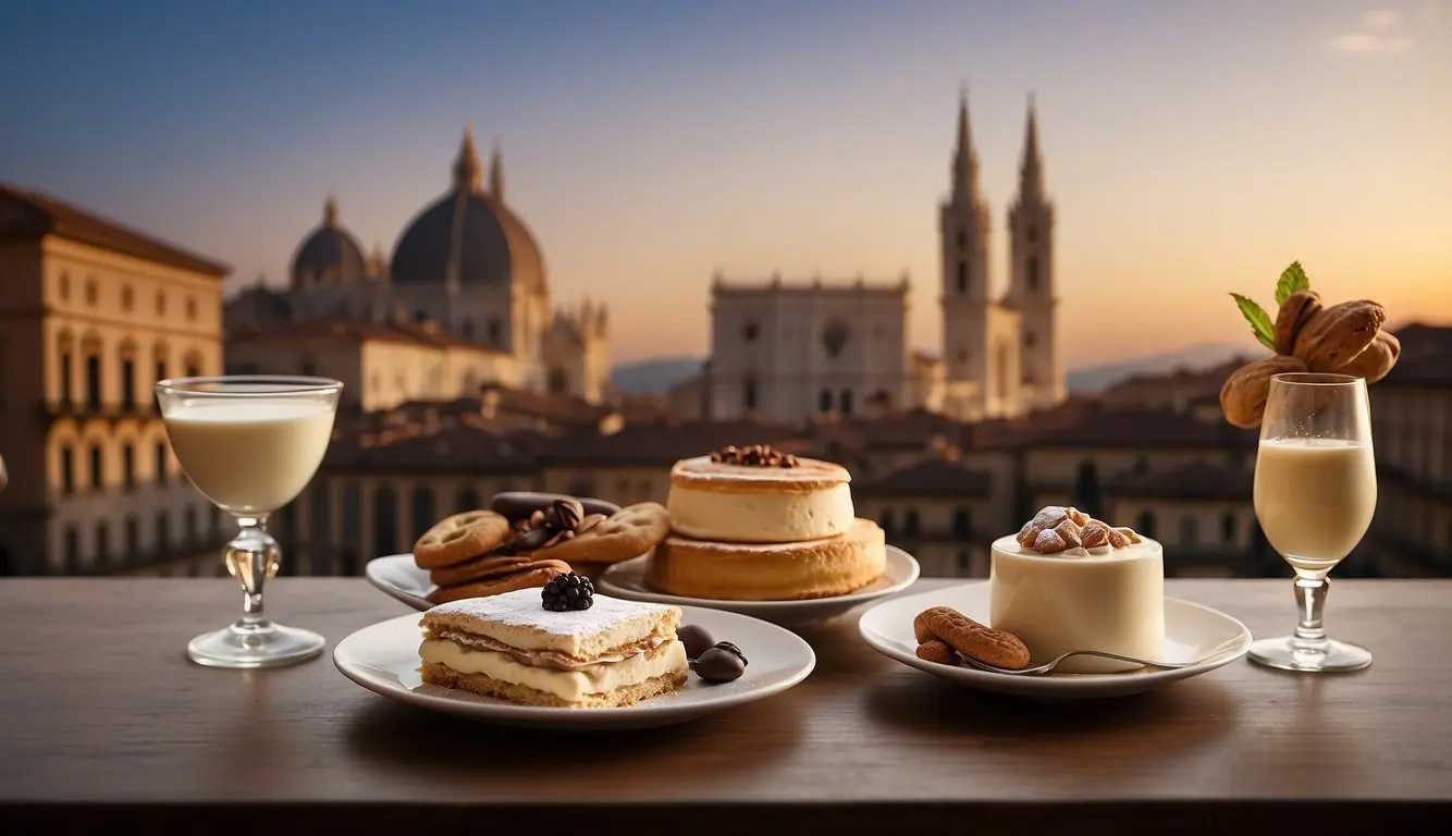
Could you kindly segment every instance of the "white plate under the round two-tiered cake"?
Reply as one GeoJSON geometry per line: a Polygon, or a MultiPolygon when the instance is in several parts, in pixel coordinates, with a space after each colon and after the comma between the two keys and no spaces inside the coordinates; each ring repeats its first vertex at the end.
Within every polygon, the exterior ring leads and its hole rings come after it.
{"type": "Polygon", "coordinates": [[[783,627],[802,627],[835,618],[858,604],[876,601],[894,592],[902,592],[918,579],[918,560],[912,554],[894,546],[887,547],[887,567],[877,581],[867,588],[851,595],[836,598],[813,598],[809,601],[717,601],[714,598],[685,598],[669,595],[646,586],[645,583],[646,557],[636,557],[624,563],[616,563],[595,581],[595,588],[605,595],[627,598],[630,601],[652,601],[655,604],[675,604],[677,607],[710,607],[727,612],[741,612],[771,621],[783,627]]]}

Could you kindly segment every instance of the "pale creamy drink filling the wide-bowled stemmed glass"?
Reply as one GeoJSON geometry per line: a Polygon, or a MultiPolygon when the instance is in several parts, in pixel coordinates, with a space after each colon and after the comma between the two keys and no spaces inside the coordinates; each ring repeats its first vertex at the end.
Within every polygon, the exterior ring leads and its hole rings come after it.
{"type": "Polygon", "coordinates": [[[333,434],[331,403],[199,399],[164,415],[177,460],[224,511],[269,514],[290,502],[322,463],[333,434]]]}

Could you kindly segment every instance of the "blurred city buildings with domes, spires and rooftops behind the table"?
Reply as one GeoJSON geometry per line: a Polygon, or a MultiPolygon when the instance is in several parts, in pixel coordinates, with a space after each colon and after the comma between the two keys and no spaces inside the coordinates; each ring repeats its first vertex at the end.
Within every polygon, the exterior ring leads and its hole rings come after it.
{"type": "MultiPolygon", "coordinates": [[[[552,296],[502,154],[485,164],[468,131],[392,253],[364,253],[319,196],[287,286],[229,298],[211,257],[0,186],[0,573],[225,573],[232,525],[179,470],[152,383],[227,372],[346,385],[321,472],[269,522],[283,573],[359,575],[499,491],[664,502],[677,459],[772,444],[851,469],[858,515],[925,575],[986,576],[987,544],[1048,504],[1162,540],[1170,576],[1289,575],[1252,508],[1256,435],[1218,403],[1252,357],[1070,393],[1032,103],[1006,208],[983,197],[966,99],[944,145],[950,176],[923,194],[939,274],[700,276],[710,357],[668,393],[616,385],[608,289],[552,296]],[[915,282],[941,308],[935,356],[908,338],[915,282]]],[[[1339,576],[1452,575],[1452,328],[1395,335],[1372,388],[1376,520],[1339,576]]]]}

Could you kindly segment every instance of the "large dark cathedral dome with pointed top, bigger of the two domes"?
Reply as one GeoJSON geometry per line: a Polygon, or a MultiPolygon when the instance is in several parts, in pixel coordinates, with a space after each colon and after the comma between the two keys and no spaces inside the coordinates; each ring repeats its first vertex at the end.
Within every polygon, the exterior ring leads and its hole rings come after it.
{"type": "Polygon", "coordinates": [[[396,284],[443,284],[457,270],[459,284],[511,284],[544,290],[544,260],[529,226],[504,205],[504,171],[495,149],[489,192],[484,167],[465,132],[454,161],[454,184],[424,208],[399,235],[391,264],[396,284]]]}

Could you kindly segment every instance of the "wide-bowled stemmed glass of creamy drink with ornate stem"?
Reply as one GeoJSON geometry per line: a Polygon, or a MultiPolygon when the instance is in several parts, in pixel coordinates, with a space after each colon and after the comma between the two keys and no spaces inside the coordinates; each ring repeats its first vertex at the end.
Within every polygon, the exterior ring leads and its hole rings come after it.
{"type": "Polygon", "coordinates": [[[327,377],[184,377],[157,383],[177,462],[213,505],[237,520],[227,570],[242,583],[242,617],[203,633],[187,656],[215,668],[273,668],[311,659],[324,639],[263,612],[263,583],[282,550],[267,515],[312,480],[333,437],[343,383],[327,377]]]}

